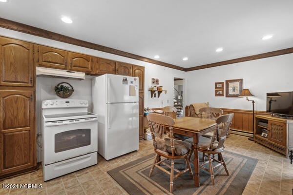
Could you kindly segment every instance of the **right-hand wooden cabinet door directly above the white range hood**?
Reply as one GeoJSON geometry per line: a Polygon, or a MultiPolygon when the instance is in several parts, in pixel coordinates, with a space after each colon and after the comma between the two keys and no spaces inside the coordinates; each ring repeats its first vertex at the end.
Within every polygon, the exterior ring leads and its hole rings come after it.
{"type": "Polygon", "coordinates": [[[68,61],[70,61],[69,70],[91,72],[92,57],[84,54],[68,52],[68,61]]]}

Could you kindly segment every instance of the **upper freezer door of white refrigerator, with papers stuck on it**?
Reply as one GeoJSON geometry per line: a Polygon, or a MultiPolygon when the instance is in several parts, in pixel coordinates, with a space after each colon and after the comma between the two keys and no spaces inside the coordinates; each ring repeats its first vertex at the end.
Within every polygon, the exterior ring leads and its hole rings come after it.
{"type": "Polygon", "coordinates": [[[138,77],[106,75],[106,103],[138,102],[138,77]]]}

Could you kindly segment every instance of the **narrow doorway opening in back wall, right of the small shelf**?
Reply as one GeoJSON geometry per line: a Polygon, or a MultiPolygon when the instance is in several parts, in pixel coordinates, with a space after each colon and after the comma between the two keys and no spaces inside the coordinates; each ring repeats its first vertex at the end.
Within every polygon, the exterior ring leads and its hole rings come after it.
{"type": "Polygon", "coordinates": [[[173,104],[177,109],[176,117],[184,117],[184,79],[174,77],[173,104]]]}

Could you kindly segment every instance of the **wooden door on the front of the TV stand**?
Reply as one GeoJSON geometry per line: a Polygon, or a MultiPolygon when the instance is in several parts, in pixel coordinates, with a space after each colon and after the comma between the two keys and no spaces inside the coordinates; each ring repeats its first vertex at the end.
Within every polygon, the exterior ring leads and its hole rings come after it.
{"type": "Polygon", "coordinates": [[[279,145],[286,146],[286,124],[269,120],[268,139],[279,145]]]}

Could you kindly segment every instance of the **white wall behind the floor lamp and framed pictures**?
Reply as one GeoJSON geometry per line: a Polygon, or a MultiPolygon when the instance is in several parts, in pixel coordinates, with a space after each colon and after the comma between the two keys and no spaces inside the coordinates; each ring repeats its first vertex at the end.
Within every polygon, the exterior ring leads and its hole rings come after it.
{"type": "MultiPolygon", "coordinates": [[[[255,96],[255,110],[266,110],[266,93],[293,91],[293,54],[187,72],[187,104],[209,101],[211,107],[252,109],[246,98],[214,96],[214,83],[243,78],[255,96]]],[[[226,90],[226,86],[225,86],[226,90]]]]}

